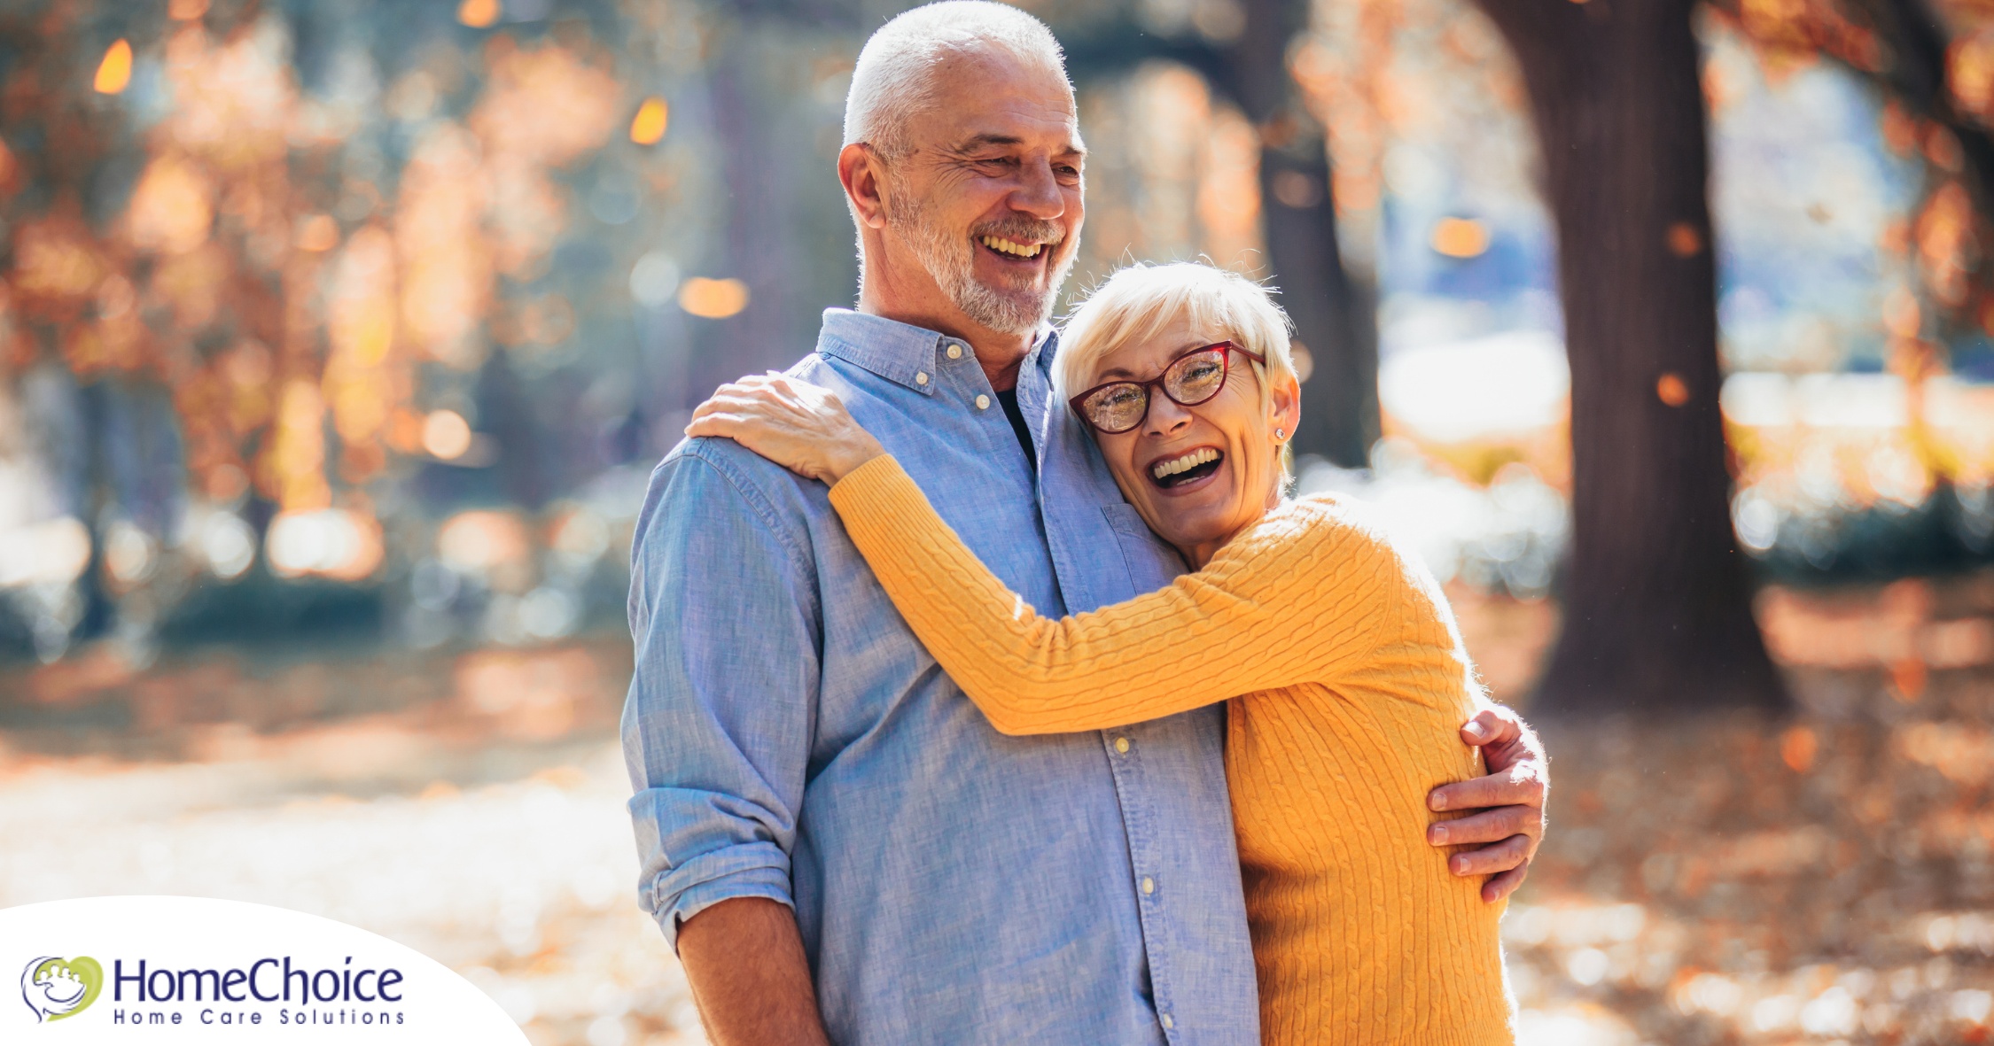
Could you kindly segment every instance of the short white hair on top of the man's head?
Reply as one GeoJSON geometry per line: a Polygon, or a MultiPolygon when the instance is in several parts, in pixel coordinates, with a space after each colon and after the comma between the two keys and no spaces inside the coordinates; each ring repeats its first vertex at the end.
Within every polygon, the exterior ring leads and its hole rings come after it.
{"type": "Polygon", "coordinates": [[[1073,90],[1045,22],[989,0],[941,0],[899,14],[865,42],[845,94],[845,145],[863,141],[885,159],[907,155],[907,122],[935,100],[937,68],[985,48],[1041,66],[1073,90]]]}

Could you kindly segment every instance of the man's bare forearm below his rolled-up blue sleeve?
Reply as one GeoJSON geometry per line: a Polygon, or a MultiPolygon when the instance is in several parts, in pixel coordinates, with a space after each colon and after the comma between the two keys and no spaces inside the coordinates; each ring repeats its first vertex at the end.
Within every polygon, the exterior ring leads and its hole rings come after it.
{"type": "Polygon", "coordinates": [[[678,960],[714,1046],[830,1046],[796,915],[738,897],[678,928],[678,960]]]}

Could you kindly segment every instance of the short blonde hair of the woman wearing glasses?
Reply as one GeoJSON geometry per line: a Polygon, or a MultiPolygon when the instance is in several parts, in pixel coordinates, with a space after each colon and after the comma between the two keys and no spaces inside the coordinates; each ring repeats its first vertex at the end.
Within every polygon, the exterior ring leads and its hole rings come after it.
{"type": "MultiPolygon", "coordinates": [[[[1188,319],[1202,331],[1222,331],[1240,349],[1258,353],[1260,406],[1270,406],[1276,385],[1294,381],[1288,335],[1294,325],[1258,283],[1202,261],[1166,265],[1135,263],[1119,269],[1067,317],[1053,359],[1053,385],[1065,400],[1093,385],[1095,367],[1111,349],[1147,341],[1188,319]]],[[[1252,363],[1252,361],[1246,361],[1252,363]]]]}

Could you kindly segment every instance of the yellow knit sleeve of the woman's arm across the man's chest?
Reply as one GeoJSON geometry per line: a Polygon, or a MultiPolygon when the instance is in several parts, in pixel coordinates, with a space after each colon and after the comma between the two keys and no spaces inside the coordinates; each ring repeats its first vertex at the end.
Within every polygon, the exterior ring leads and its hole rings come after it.
{"type": "Polygon", "coordinates": [[[849,472],[831,504],[915,636],[1003,733],[1334,685],[1406,614],[1390,542],[1326,500],[1270,512],[1168,588],[1059,620],[1005,588],[891,456],[849,472]]]}

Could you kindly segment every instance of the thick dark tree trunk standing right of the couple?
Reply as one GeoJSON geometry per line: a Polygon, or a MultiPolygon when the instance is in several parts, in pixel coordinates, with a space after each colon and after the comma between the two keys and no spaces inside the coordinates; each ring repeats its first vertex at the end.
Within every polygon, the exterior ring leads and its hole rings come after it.
{"type": "Polygon", "coordinates": [[[1731,532],[1693,0],[1478,0],[1535,116],[1571,359],[1573,542],[1539,707],[1785,703],[1731,532]]]}

